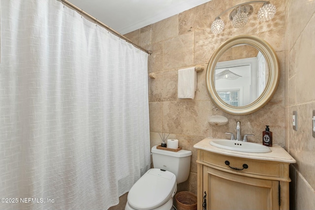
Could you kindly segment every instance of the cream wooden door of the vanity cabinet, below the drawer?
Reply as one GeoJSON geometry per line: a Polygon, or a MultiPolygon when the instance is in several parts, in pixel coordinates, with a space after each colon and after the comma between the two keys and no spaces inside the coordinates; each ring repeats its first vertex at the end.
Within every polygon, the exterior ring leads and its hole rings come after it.
{"type": "Polygon", "coordinates": [[[279,210],[279,181],[244,177],[203,166],[207,210],[279,210]]]}

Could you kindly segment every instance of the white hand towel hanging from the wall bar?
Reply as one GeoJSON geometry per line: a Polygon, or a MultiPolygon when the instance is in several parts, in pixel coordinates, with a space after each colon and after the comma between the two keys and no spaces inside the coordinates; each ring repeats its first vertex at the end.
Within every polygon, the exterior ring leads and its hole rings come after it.
{"type": "Polygon", "coordinates": [[[197,73],[195,67],[178,70],[178,98],[194,98],[197,89],[197,73]]]}

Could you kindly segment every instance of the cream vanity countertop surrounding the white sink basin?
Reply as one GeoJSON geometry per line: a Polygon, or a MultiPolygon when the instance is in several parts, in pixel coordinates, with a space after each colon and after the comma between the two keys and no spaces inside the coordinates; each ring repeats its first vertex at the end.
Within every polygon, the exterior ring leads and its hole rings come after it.
{"type": "MultiPolygon", "coordinates": [[[[210,145],[210,141],[215,140],[215,138],[205,138],[195,144],[193,147],[199,150],[206,150],[210,152],[215,152],[218,154],[229,155],[233,157],[241,157],[241,158],[248,158],[248,159],[255,159],[255,160],[268,160],[268,161],[275,161],[275,162],[283,162],[283,163],[295,163],[295,159],[291,157],[291,155],[284,150],[279,145],[273,145],[270,147],[270,152],[266,153],[252,153],[252,152],[241,152],[241,151],[234,151],[234,150],[226,150],[217,148],[215,146],[210,145]]],[[[232,140],[231,140],[232,141],[232,140]]]]}

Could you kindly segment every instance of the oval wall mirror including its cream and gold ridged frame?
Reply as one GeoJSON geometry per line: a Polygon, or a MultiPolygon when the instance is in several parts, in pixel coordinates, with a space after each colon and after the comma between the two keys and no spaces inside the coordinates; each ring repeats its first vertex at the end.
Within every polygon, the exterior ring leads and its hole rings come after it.
{"type": "Polygon", "coordinates": [[[276,53],[266,41],[250,35],[224,42],[206,71],[211,98],[234,115],[250,114],[263,107],[277,90],[279,79],[276,53]]]}

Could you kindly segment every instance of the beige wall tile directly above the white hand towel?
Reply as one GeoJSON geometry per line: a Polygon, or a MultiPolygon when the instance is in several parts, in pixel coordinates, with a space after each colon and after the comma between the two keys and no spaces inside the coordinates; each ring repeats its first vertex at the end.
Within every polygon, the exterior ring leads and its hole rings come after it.
{"type": "Polygon", "coordinates": [[[193,33],[183,34],[164,41],[164,69],[193,65],[193,33]]]}

